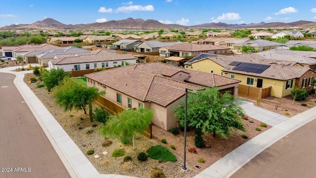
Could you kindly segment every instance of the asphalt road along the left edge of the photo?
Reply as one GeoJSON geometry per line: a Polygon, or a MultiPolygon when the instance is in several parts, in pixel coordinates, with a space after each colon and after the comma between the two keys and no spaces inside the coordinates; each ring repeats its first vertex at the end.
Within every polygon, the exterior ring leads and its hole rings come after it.
{"type": "Polygon", "coordinates": [[[0,73],[0,178],[70,178],[14,78],[0,73]]]}

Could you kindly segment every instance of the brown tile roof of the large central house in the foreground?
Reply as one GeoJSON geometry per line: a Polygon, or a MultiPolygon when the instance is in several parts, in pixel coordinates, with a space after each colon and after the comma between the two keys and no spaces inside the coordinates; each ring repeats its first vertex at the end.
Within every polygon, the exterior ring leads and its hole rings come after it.
{"type": "Polygon", "coordinates": [[[199,89],[201,85],[203,87],[214,87],[214,83],[215,85],[224,83],[228,85],[240,82],[235,79],[186,70],[161,62],[133,64],[85,76],[140,101],[151,101],[164,107],[181,98],[185,94],[186,88],[199,89]],[[164,77],[172,76],[179,71],[190,75],[186,82],[164,77]]]}

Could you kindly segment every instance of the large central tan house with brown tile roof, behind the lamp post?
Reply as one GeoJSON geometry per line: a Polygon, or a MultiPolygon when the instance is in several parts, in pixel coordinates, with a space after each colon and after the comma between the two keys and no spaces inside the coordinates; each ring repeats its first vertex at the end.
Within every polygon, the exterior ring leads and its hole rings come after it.
{"type": "Polygon", "coordinates": [[[154,109],[152,123],[164,130],[178,127],[173,107],[184,98],[185,89],[218,87],[237,96],[239,80],[187,70],[161,62],[137,63],[85,75],[87,86],[105,89],[105,98],[123,108],[154,109]]]}

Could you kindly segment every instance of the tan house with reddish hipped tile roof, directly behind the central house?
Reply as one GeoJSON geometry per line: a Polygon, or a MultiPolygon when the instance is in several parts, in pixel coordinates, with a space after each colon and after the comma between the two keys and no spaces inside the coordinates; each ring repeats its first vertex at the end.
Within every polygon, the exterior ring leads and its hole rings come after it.
{"type": "Polygon", "coordinates": [[[193,43],[181,43],[172,46],[164,46],[159,49],[159,55],[163,57],[186,57],[186,56],[197,56],[201,53],[210,54],[225,54],[229,53],[231,48],[226,46],[216,46],[216,45],[197,45],[193,43]],[[170,56],[164,56],[170,53],[170,56]]]}

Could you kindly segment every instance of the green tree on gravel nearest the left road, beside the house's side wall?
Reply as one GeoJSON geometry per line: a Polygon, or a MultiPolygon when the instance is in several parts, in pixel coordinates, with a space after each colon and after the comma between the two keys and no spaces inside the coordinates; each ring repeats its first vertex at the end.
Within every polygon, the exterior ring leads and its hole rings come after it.
{"type": "MultiPolygon", "coordinates": [[[[63,107],[65,111],[77,110],[84,111],[87,114],[87,106],[92,101],[96,100],[99,95],[105,94],[105,91],[99,91],[96,87],[82,87],[71,78],[65,78],[57,87],[53,89],[53,97],[59,106],[63,107]]],[[[90,117],[93,122],[92,112],[90,117]]]]}

